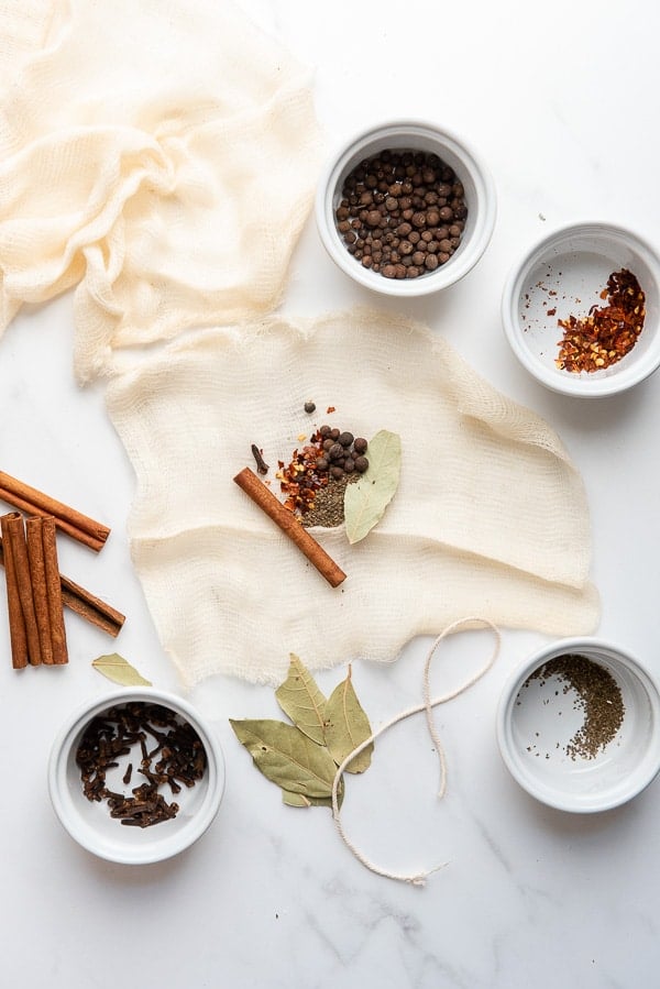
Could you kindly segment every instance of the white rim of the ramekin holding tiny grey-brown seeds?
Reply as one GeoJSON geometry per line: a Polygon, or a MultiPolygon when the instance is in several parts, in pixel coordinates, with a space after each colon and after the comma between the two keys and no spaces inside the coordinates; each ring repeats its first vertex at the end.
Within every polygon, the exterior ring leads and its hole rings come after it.
{"type": "Polygon", "coordinates": [[[502,759],[516,782],[531,796],[541,803],[559,811],[568,811],[576,814],[601,813],[627,803],[645,790],[660,772],[660,688],[649,670],[645,668],[632,653],[618,642],[600,638],[597,636],[566,637],[542,646],[527,657],[524,662],[513,670],[506,679],[499,695],[496,713],[496,736],[502,759]],[[642,760],[637,772],[630,774],[628,785],[619,791],[616,798],[604,799],[600,803],[575,803],[570,798],[562,799],[556,792],[549,793],[542,785],[536,787],[529,777],[522,777],[518,772],[516,760],[512,752],[515,748],[512,732],[512,711],[518,691],[527,678],[544,662],[568,652],[607,656],[610,661],[615,659],[625,666],[645,688],[651,715],[653,719],[652,745],[649,746],[646,759],[642,760]]]}

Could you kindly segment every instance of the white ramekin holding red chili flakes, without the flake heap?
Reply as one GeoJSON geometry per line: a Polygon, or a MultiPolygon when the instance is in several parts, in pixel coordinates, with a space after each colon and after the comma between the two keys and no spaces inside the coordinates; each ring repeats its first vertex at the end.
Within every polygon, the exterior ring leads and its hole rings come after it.
{"type": "Polygon", "coordinates": [[[638,234],[600,222],[572,223],[526,251],[505,283],[502,321],[524,367],[554,392],[595,398],[624,392],[660,366],[660,257],[638,234]],[[646,319],[638,341],[620,361],[595,372],[559,369],[559,319],[586,316],[609,275],[628,268],[646,295],[646,319]],[[553,311],[554,310],[554,311],[553,311]],[[551,315],[549,315],[549,311],[551,315]]]}

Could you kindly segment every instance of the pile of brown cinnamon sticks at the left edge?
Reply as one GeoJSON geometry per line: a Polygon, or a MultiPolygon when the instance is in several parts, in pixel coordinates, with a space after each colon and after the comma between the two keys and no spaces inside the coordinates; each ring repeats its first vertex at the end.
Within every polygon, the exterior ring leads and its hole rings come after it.
{"type": "Polygon", "coordinates": [[[28,515],[0,517],[13,668],[68,662],[65,605],[117,636],[124,616],[59,573],[55,535],[59,529],[98,552],[110,529],[1,471],[0,499],[28,515]]]}

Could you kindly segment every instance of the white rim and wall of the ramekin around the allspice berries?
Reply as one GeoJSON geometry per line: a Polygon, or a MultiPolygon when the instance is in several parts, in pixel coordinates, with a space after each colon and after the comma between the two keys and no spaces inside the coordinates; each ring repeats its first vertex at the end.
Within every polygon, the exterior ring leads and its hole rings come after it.
{"type": "MultiPolygon", "coordinates": [[[[437,153],[442,157],[440,150],[437,153]]],[[[451,129],[429,120],[402,118],[391,121],[384,120],[366,129],[361,129],[339,144],[321,172],[317,185],[315,213],[319,237],[326,251],[336,264],[353,281],[383,295],[415,297],[430,295],[454,285],[471,272],[481,260],[495,229],[497,194],[490,169],[479,152],[464,138],[451,129]],[[424,133],[429,139],[438,141],[440,145],[446,144],[449,151],[458,158],[461,158],[476,187],[479,200],[476,227],[470,240],[463,242],[462,246],[464,246],[464,250],[460,254],[452,256],[447,264],[436,268],[435,272],[418,278],[385,278],[377,272],[370,272],[367,268],[362,267],[346,251],[334,223],[332,198],[337,180],[346,162],[361,149],[364,149],[366,152],[367,146],[374,141],[387,138],[391,134],[393,136],[395,134],[405,136],[407,132],[410,133],[411,139],[415,138],[416,133],[424,133]]]]}

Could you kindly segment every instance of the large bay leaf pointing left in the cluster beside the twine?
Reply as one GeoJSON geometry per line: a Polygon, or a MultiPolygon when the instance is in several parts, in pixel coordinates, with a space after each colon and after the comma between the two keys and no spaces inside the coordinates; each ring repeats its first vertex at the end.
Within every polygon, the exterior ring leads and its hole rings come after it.
{"type": "Polygon", "coordinates": [[[324,746],[284,722],[230,718],[229,723],[256,768],[271,782],[306,796],[332,794],[337,766],[324,746]]]}

